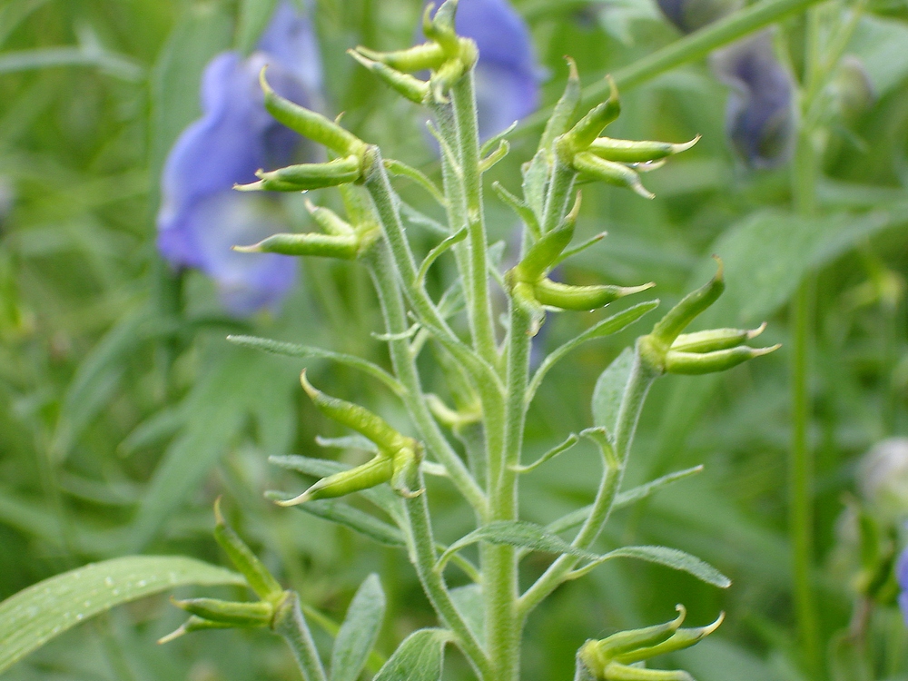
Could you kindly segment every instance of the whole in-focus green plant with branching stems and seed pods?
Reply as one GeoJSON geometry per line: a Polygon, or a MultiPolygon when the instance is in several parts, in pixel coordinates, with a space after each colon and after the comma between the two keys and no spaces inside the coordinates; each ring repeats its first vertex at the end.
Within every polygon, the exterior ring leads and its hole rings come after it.
{"type": "MultiPolygon", "coordinates": [[[[597,422],[580,433],[601,451],[601,480],[594,503],[548,527],[520,519],[521,477],[578,439],[568,434],[541,459],[522,460],[528,405],[546,373],[569,350],[627,327],[658,304],[640,302],[598,322],[555,350],[530,373],[530,343],[549,313],[596,310],[652,286],[579,286],[548,278],[558,262],[578,250],[571,247],[580,202],[575,185],[578,179],[605,182],[652,198],[639,172],[684,152],[696,140],[678,144],[603,136],[603,129],[620,113],[616,88],[612,86],[605,102],[578,115],[579,81],[570,64],[565,92],[548,120],[537,153],[523,167],[523,195],[518,197],[500,185],[494,186],[498,196],[516,212],[523,230],[518,263],[508,271],[497,271],[489,257],[482,178],[508,153],[508,142],[504,135],[498,135],[480,146],[474,94],[478,50],[474,41],[456,34],[456,10],[455,0],[441,5],[434,16],[431,7],[427,9],[423,24],[427,42],[423,44],[399,52],[378,53],[360,47],[350,53],[380,81],[426,106],[432,114],[434,123],[429,123],[429,129],[441,150],[440,188],[406,163],[383,158],[379,146],[360,140],[339,123],[281,97],[271,89],[266,70],[262,70],[265,107],[287,127],[323,145],[331,160],[260,171],[257,182],[237,187],[242,192],[306,192],[338,187],[344,215],[311,205],[321,232],[276,234],[236,250],[350,261],[350,266],[369,271],[378,293],[385,323],[381,338],[388,343],[393,374],[376,366],[369,369],[400,397],[412,429],[400,432],[360,405],[321,392],[303,373],[302,387],[315,407],[355,432],[360,446],[370,449],[373,457],[350,469],[307,457],[274,459],[280,466],[318,480],[307,489],[270,496],[281,506],[303,505],[322,518],[406,549],[439,622],[438,627],[411,634],[382,667],[380,679],[438,678],[446,644],[457,646],[481,679],[518,678],[521,631],[530,613],[559,585],[583,577],[608,560],[653,561],[727,586],[725,577],[714,568],[676,549],[624,547],[597,555],[592,545],[617,505],[665,482],[655,481],[629,493],[620,491],[637,419],[653,382],[666,373],[725,370],[775,349],[748,347],[745,343],[755,331],[685,333],[691,321],[723,290],[719,263],[712,281],[668,311],[600,379],[597,399],[604,406],[597,410],[597,422]],[[414,75],[426,71],[428,80],[414,75]],[[391,174],[416,179],[447,214],[448,234],[428,254],[418,256],[414,251],[391,174]],[[439,257],[453,257],[459,276],[449,281],[447,291],[436,300],[427,290],[426,276],[439,257]],[[503,329],[494,319],[492,282],[508,299],[503,329]],[[456,324],[461,312],[467,320],[466,335],[458,332],[456,324]],[[424,394],[417,359],[427,340],[437,343],[439,351],[448,356],[442,370],[449,376],[453,407],[424,394]],[[457,433],[457,426],[467,421],[481,423],[482,439],[479,453],[474,451],[465,461],[446,428],[457,433]],[[473,509],[476,523],[473,531],[448,547],[439,547],[434,538],[427,502],[432,490],[425,477],[437,475],[449,478],[459,490],[473,509]],[[343,501],[357,493],[369,499],[376,515],[343,501]],[[563,538],[566,533],[570,538],[563,538]],[[478,564],[461,553],[474,544],[479,545],[478,564]],[[524,588],[518,580],[518,566],[529,551],[554,553],[557,558],[524,588]],[[449,588],[446,572],[454,566],[474,583],[449,588]]],[[[281,350],[281,344],[262,339],[241,337],[234,341],[262,350],[281,350]]],[[[327,678],[298,597],[280,587],[224,524],[220,512],[218,518],[217,537],[259,600],[180,601],[177,605],[191,617],[168,640],[208,627],[271,627],[286,637],[308,681],[327,678]]],[[[337,637],[331,678],[358,676],[380,627],[382,602],[379,582],[367,579],[337,637]],[[338,669],[338,665],[343,668],[338,669]]],[[[665,624],[587,641],[577,653],[577,678],[686,678],[681,671],[646,669],[641,664],[694,645],[722,619],[717,614],[716,621],[706,627],[682,627],[685,611],[680,606],[678,610],[678,617],[665,624]]]]}

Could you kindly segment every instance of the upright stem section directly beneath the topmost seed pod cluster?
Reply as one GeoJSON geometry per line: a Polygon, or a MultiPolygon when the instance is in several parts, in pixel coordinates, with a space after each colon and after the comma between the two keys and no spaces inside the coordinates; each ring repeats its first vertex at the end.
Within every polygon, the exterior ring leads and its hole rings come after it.
{"type": "Polygon", "coordinates": [[[470,70],[451,88],[454,122],[458,132],[460,170],[463,175],[464,197],[467,202],[469,243],[469,305],[473,332],[473,347],[479,356],[495,366],[498,350],[489,300],[489,262],[486,242],[486,222],[482,206],[482,173],[479,171],[479,126],[476,118],[476,95],[473,90],[473,71],[470,70]]]}

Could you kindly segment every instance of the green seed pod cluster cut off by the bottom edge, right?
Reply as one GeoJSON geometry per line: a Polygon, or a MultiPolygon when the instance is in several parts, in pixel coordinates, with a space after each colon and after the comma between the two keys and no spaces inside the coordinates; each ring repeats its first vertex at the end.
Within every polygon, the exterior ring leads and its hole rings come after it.
{"type": "Polygon", "coordinates": [[[686,617],[684,606],[676,606],[678,617],[671,622],[621,631],[601,641],[587,641],[577,651],[575,681],[693,681],[685,671],[646,669],[639,666],[650,657],[673,653],[695,645],[722,624],[725,613],[706,627],[681,628],[686,617]]]}

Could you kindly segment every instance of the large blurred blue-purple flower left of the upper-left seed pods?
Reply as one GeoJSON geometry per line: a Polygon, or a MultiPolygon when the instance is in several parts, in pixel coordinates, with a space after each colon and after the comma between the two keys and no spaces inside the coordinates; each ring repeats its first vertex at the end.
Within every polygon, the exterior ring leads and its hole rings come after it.
{"type": "Polygon", "coordinates": [[[203,271],[217,284],[224,306],[245,316],[275,307],[295,279],[293,258],[232,252],[283,229],[270,197],[239,193],[234,183],[255,171],[291,163],[301,138],[276,123],[262,105],[258,76],[304,105],[321,87],[321,64],[309,20],[281,2],[248,58],[215,56],[202,74],[202,118],[187,127],[164,164],[158,248],[174,267],[203,271]]]}

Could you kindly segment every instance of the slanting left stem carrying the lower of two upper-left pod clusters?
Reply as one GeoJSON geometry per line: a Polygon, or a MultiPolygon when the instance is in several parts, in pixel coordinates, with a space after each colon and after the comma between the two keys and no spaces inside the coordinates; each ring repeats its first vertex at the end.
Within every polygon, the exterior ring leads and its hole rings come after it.
{"type": "Polygon", "coordinates": [[[426,443],[429,452],[444,464],[455,486],[482,518],[487,512],[486,497],[457,452],[441,433],[422,394],[416,360],[410,351],[410,341],[403,335],[407,331],[407,314],[387,244],[376,243],[368,256],[367,264],[379,294],[385,330],[390,336],[388,344],[394,373],[405,388],[402,397],[404,406],[410,414],[410,419],[413,419],[419,429],[419,436],[426,443]]]}

